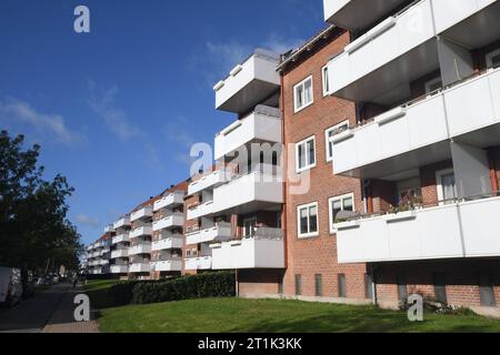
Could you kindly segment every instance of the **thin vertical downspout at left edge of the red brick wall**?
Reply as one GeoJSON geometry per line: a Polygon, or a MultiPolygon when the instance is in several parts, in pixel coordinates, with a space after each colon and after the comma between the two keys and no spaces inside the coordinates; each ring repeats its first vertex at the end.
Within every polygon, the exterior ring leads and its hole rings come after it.
{"type": "MultiPolygon", "coordinates": [[[[283,55],[281,54],[281,62],[283,61],[283,55]]],[[[281,69],[280,71],[280,111],[281,111],[281,142],[283,146],[283,154],[282,154],[282,164],[283,169],[281,172],[281,176],[283,179],[283,182],[281,184],[282,186],[282,194],[283,194],[283,206],[281,212],[281,230],[283,231],[283,251],[284,251],[284,270],[288,268],[288,233],[287,233],[287,180],[288,180],[288,152],[287,152],[287,144],[286,144],[286,134],[284,134],[284,69],[281,69]]],[[[284,274],[282,283],[282,292],[284,293],[284,274]]]]}

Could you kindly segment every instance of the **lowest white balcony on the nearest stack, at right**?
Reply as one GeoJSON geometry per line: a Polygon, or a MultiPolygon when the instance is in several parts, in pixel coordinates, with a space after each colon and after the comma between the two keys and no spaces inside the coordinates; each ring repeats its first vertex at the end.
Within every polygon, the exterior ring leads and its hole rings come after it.
{"type": "Polygon", "coordinates": [[[496,197],[339,223],[338,261],[499,256],[498,211],[496,197]]]}

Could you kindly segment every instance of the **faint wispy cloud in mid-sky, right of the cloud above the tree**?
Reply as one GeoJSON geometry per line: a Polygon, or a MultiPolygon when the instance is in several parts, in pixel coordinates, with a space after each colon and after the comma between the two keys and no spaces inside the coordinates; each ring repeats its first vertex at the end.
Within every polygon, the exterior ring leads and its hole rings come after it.
{"type": "Polygon", "coordinates": [[[89,106],[104,121],[108,128],[121,140],[142,135],[142,131],[129,122],[126,112],[117,105],[118,87],[100,89],[94,82],[89,82],[89,106]]]}

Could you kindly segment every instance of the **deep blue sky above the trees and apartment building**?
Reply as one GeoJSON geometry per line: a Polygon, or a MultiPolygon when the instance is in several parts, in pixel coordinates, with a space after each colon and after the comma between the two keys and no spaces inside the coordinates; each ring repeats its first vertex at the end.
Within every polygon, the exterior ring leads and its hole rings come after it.
{"type": "Polygon", "coordinates": [[[191,144],[234,119],[212,91],[234,64],[321,28],[322,0],[2,0],[0,128],[76,187],[69,217],[89,243],[189,176],[191,144]],[[79,4],[91,33],[73,31],[79,4]]]}

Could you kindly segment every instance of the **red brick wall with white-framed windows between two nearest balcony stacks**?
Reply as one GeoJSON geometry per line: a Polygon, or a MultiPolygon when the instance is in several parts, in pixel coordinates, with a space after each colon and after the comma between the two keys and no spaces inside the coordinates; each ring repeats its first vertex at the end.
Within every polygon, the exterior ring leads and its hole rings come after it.
{"type": "MultiPolygon", "coordinates": [[[[337,241],[330,234],[328,200],[332,196],[354,193],[356,210],[362,211],[360,182],[356,179],[333,175],[331,163],[326,158],[324,131],[344,120],[356,124],[354,104],[333,97],[323,98],[321,69],[329,59],[349,42],[348,33],[336,30],[336,38],[328,38],[314,45],[306,59],[297,61],[283,73],[284,141],[297,143],[316,135],[317,166],[310,170],[311,186],[308,193],[294,195],[287,187],[286,219],[288,268],[284,274],[286,295],[294,294],[294,275],[302,280],[302,295],[314,296],[314,275],[322,275],[322,294],[326,297],[338,296],[338,275],[346,274],[347,296],[364,298],[366,265],[341,265],[337,263],[337,241]],[[314,103],[294,113],[293,85],[312,74],[314,103]],[[319,236],[298,239],[297,207],[318,202],[319,236]]],[[[288,161],[290,161],[288,159],[288,161]]],[[[294,169],[289,166],[288,170],[294,169]]]]}

